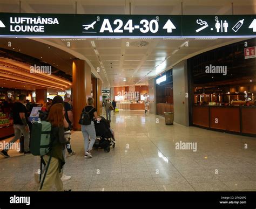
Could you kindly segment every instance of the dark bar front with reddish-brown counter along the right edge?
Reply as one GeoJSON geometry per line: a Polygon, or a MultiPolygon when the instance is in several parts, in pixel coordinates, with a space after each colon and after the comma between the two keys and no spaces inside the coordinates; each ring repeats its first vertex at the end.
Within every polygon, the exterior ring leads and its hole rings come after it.
{"type": "Polygon", "coordinates": [[[246,57],[254,46],[249,39],[188,60],[193,126],[256,135],[256,58],[246,57]]]}

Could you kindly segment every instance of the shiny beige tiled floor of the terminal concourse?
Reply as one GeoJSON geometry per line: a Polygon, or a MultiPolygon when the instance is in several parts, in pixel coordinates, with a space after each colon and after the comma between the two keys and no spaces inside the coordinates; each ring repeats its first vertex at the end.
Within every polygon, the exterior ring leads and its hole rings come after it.
{"type": "MultiPolygon", "coordinates": [[[[163,117],[144,116],[143,111],[120,110],[111,125],[116,148],[109,153],[93,150],[91,159],[84,159],[82,133],[72,134],[76,155],[66,158],[64,170],[72,178],[64,182],[65,189],[256,191],[256,138],[166,126],[163,117]],[[180,141],[197,143],[197,151],[177,150],[180,141]]],[[[33,172],[39,169],[38,157],[15,150],[9,155],[0,156],[0,191],[37,191],[33,172]]]]}

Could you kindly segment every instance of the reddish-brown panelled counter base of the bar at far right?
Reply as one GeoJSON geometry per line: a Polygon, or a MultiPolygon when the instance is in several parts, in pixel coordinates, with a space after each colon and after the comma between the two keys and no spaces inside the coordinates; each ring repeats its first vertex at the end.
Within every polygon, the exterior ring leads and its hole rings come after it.
{"type": "Polygon", "coordinates": [[[193,106],[193,124],[256,136],[256,107],[193,106]]]}

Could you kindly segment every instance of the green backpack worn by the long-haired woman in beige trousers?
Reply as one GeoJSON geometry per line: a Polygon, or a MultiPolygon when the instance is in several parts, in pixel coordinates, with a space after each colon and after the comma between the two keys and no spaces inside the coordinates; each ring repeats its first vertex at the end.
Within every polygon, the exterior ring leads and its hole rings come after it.
{"type": "Polygon", "coordinates": [[[51,147],[51,123],[41,121],[32,123],[30,151],[32,155],[44,156],[51,147]]]}

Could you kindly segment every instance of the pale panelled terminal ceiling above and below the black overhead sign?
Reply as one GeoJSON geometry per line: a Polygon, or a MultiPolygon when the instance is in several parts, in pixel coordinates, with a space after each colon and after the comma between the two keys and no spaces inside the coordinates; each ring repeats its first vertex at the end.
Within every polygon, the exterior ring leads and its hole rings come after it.
{"type": "MultiPolygon", "coordinates": [[[[31,13],[31,15],[32,13],[65,13],[70,15],[76,13],[78,15],[140,15],[142,18],[143,15],[202,15],[205,17],[206,14],[232,15],[234,13],[234,15],[249,15],[255,13],[255,1],[212,2],[207,0],[197,1],[196,3],[193,1],[107,1],[107,4],[106,1],[44,1],[44,3],[41,1],[0,1],[0,3],[0,12],[22,12],[31,13]]],[[[242,19],[239,17],[240,20],[242,19]]],[[[224,19],[220,21],[222,27],[224,19]]],[[[92,29],[93,23],[87,25],[87,30],[92,29]]],[[[154,24],[151,24],[152,30],[156,29],[154,24]]],[[[204,24],[203,20],[201,23],[195,23],[198,28],[202,26],[200,32],[206,30],[204,24]]],[[[250,23],[247,22],[247,24],[250,23]]],[[[86,27],[84,28],[86,30],[86,27]]],[[[67,29],[69,27],[66,27],[67,29]]],[[[200,33],[198,30],[194,33],[200,33]]],[[[210,27],[207,30],[210,31],[210,27]]],[[[223,28],[223,30],[225,29],[223,28]]],[[[254,29],[247,30],[252,32],[254,29]]],[[[173,29],[173,31],[178,31],[178,27],[177,30],[173,29]]],[[[215,29],[212,31],[216,33],[215,29]]],[[[233,32],[231,25],[229,31],[233,32]]],[[[225,31],[223,31],[224,33],[225,31]]],[[[248,37],[143,38],[132,37],[132,35],[129,38],[31,37],[1,38],[0,47],[47,62],[59,71],[64,72],[67,78],[72,75],[70,67],[72,60],[75,58],[84,59],[89,62],[92,73],[103,81],[105,87],[113,87],[145,84],[148,80],[156,77],[161,72],[169,70],[182,60],[246,39],[248,37]],[[11,47],[8,46],[9,41],[12,43],[11,47]],[[33,50],[33,48],[38,50],[33,50]]]]}

